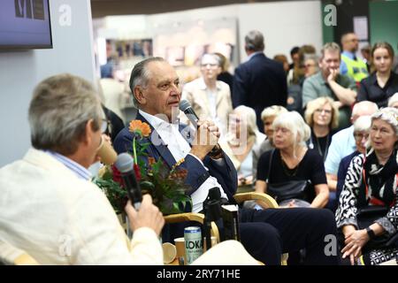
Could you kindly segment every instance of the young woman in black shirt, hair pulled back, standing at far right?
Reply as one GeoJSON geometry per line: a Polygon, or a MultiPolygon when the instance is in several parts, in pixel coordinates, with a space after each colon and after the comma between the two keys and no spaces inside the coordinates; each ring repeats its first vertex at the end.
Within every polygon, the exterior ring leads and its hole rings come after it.
{"type": "Polygon", "coordinates": [[[361,81],[357,101],[387,107],[388,98],[398,92],[398,74],[392,72],[394,50],[389,43],[378,42],[371,50],[371,58],[376,72],[361,81]]]}

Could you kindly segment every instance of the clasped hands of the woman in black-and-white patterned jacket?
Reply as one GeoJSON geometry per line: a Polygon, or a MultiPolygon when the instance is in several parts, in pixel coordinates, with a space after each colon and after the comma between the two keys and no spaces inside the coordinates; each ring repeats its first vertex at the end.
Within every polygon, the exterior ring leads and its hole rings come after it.
{"type": "Polygon", "coordinates": [[[369,236],[366,233],[366,230],[349,231],[345,234],[344,243],[346,245],[341,249],[341,253],[343,254],[342,258],[349,256],[351,265],[354,265],[356,259],[362,254],[362,248],[368,241],[369,236]]]}

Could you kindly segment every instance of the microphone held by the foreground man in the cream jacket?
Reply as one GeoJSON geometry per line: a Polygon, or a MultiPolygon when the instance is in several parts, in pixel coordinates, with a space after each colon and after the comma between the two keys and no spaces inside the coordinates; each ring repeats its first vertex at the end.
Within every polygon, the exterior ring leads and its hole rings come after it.
{"type": "Polygon", "coordinates": [[[141,187],[135,179],[133,157],[128,153],[121,153],[116,159],[115,166],[121,172],[128,198],[133,203],[135,210],[139,210],[142,203],[142,194],[141,187]]]}

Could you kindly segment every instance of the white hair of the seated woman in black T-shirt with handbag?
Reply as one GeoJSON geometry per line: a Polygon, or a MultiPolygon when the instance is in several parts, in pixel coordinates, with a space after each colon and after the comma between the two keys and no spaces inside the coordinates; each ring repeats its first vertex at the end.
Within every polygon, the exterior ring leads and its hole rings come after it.
{"type": "Polygon", "coordinates": [[[295,145],[297,141],[297,136],[300,137],[300,141],[297,143],[304,147],[306,146],[305,142],[310,139],[310,126],[305,124],[302,116],[296,111],[289,111],[280,114],[276,119],[273,120],[272,123],[272,127],[274,129],[278,126],[286,127],[293,133],[295,145]]]}

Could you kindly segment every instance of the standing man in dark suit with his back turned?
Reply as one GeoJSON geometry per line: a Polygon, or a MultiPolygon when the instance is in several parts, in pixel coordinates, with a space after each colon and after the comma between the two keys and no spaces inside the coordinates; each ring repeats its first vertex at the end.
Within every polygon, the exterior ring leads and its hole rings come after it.
{"type": "Polygon", "coordinates": [[[261,112],[272,105],[287,105],[287,78],[283,66],[264,55],[264,36],[253,30],[245,36],[249,58],[235,69],[233,108],[246,105],[256,111],[257,126],[263,132],[261,112]]]}

